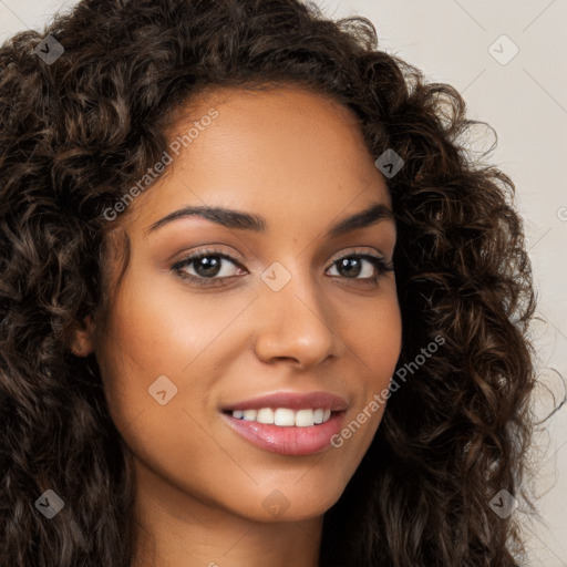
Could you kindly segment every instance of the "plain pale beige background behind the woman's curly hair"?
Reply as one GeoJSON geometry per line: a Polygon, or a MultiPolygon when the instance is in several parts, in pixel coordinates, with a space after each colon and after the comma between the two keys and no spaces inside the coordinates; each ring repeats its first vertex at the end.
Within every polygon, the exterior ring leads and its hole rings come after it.
{"type": "MultiPolygon", "coordinates": [[[[27,28],[41,31],[55,11],[75,3],[0,0],[0,42],[27,28]]],[[[567,0],[317,3],[333,19],[369,18],[382,49],[420,68],[429,81],[455,86],[468,115],[495,128],[498,145],[488,159],[516,185],[538,290],[535,411],[544,417],[566,395],[558,373],[567,378],[567,0]]],[[[493,137],[478,140],[487,150],[493,137]]],[[[534,489],[545,523],[528,522],[522,506],[514,512],[523,518],[533,566],[567,567],[566,406],[536,435],[534,489]]]]}

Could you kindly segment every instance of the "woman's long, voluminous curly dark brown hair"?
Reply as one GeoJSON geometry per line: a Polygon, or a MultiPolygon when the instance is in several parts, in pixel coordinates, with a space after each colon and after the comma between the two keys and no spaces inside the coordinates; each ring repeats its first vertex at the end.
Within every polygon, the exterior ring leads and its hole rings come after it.
{"type": "Polygon", "coordinates": [[[388,179],[396,368],[445,340],[392,393],[326,513],[321,567],[525,557],[516,516],[488,504],[502,489],[529,502],[535,293],[514,184],[465,150],[480,122],[463,97],[379,50],[368,19],[334,22],[313,3],[82,0],[0,48],[1,567],[130,566],[133,471],[96,359],[69,352],[72,330],[89,315],[103,323],[113,297],[118,220],[103,212],[159,159],[175,111],[207,90],[268,83],[332,96],[360,118],[374,158],[403,158],[388,179]],[[64,47],[56,61],[38,54],[47,35],[64,47]],[[49,488],[65,507],[47,523],[34,503],[49,488]]]}

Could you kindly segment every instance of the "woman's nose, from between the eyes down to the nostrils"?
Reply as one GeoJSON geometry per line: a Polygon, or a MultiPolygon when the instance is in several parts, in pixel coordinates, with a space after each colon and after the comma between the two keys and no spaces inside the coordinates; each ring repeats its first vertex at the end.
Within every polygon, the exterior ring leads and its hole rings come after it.
{"type": "Polygon", "coordinates": [[[291,275],[279,291],[261,282],[256,354],[262,362],[291,360],[302,369],[340,357],[344,343],[334,313],[309,276],[291,275]]]}

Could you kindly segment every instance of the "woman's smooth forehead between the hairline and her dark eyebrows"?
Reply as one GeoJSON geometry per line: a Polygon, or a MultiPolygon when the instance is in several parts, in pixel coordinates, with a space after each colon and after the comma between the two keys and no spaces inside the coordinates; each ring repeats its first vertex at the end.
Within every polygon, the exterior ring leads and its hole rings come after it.
{"type": "Polygon", "coordinates": [[[133,206],[146,226],[189,204],[293,216],[309,207],[311,217],[333,216],[358,198],[390,204],[357,116],[330,96],[289,86],[225,89],[174,116],[166,135],[177,153],[169,150],[165,176],[133,206]]]}

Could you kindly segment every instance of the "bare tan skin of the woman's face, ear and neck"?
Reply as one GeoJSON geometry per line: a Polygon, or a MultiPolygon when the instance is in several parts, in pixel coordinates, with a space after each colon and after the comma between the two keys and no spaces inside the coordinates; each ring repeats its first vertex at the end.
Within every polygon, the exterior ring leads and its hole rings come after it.
{"type": "MultiPolygon", "coordinates": [[[[212,107],[218,117],[114,221],[130,235],[130,265],[104,328],[87,319],[74,348],[94,351],[135,463],[134,567],[315,567],[323,514],[367,452],[383,404],[340,447],[308,456],[252,445],[219,408],[323,390],[347,399],[347,424],[388,388],[402,331],[394,272],[364,285],[372,264],[362,260],[357,275],[334,260],[359,252],[390,262],[395,224],[337,238],[327,231],[391,200],[350,110],[293,86],[207,96],[172,133],[186,133],[212,107]],[[145,234],[169,213],[205,204],[261,215],[268,230],[193,216],[145,234]],[[220,260],[229,278],[217,287],[172,270],[212,247],[244,269],[220,260]],[[291,276],[277,292],[260,278],[275,261],[291,276]],[[165,405],[148,394],[161,375],[177,388],[165,405]],[[265,505],[270,495],[278,514],[265,505]]],[[[195,264],[184,270],[204,272],[195,264]]]]}

